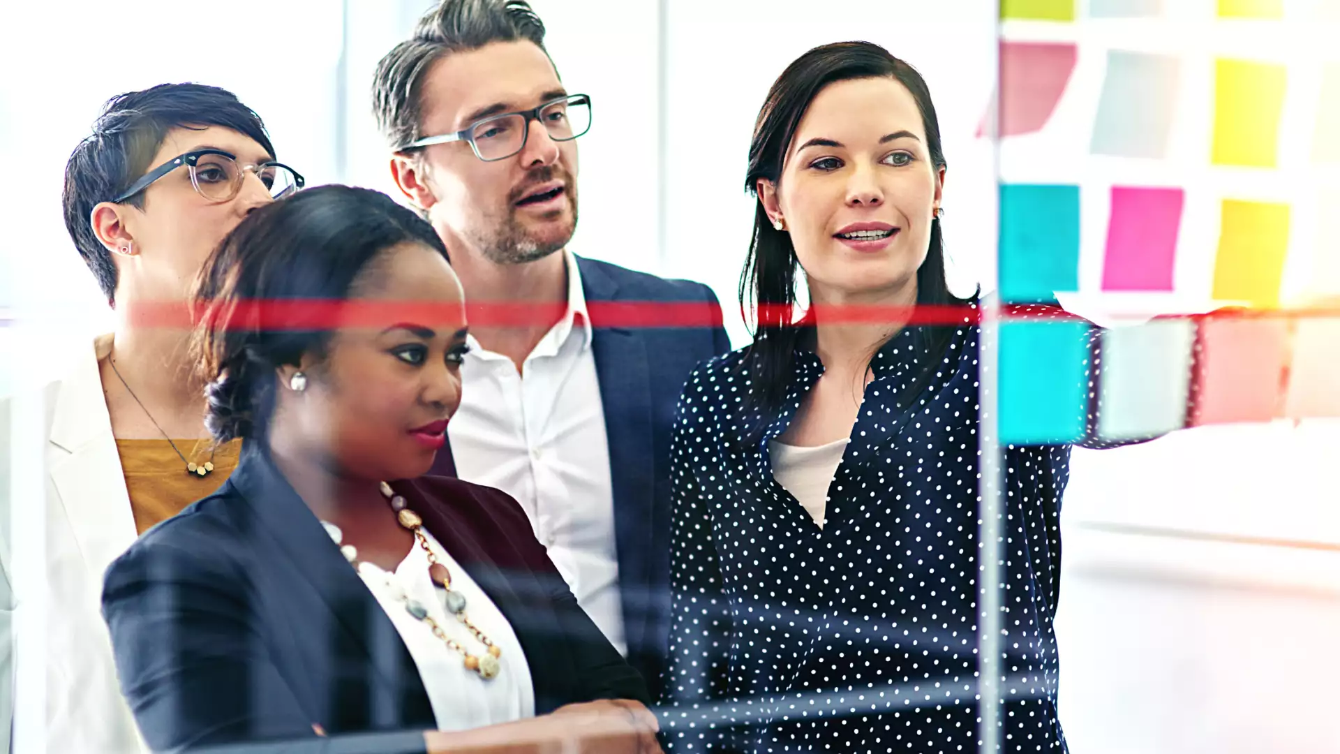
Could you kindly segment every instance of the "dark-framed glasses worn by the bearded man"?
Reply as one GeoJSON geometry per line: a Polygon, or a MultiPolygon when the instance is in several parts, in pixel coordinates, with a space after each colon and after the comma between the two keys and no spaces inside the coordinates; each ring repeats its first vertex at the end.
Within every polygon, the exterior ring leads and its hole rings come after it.
{"type": "Polygon", "coordinates": [[[572,141],[591,130],[591,98],[586,94],[570,94],[551,99],[532,110],[489,115],[470,123],[465,130],[423,137],[406,144],[397,152],[465,141],[474,150],[474,156],[485,162],[507,160],[525,148],[525,140],[531,136],[531,121],[544,123],[544,130],[553,141],[572,141]]]}

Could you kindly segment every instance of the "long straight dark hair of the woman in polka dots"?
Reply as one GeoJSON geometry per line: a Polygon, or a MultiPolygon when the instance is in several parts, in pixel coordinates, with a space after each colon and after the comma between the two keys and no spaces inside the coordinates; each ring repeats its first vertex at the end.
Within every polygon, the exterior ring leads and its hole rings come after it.
{"type": "MultiPolygon", "coordinates": [[[[931,164],[937,170],[943,168],[939,121],[930,101],[930,90],[921,74],[878,44],[839,42],[805,52],[772,85],[768,99],[758,111],[753,141],[749,144],[745,189],[757,197],[760,178],[777,184],[796,127],[809,103],[825,86],[868,78],[892,78],[907,87],[922,115],[931,164]]],[[[749,309],[756,311],[754,339],[744,358],[744,368],[750,374],[753,408],[760,413],[760,424],[754,428],[754,433],[762,431],[785,397],[796,347],[809,330],[807,323],[795,322],[792,314],[796,306],[799,267],[791,233],[775,229],[762,203],[756,203],[753,240],[749,244],[744,272],[740,275],[740,306],[745,319],[749,319],[749,309]]],[[[917,303],[966,303],[966,299],[950,292],[945,279],[945,250],[938,217],[931,221],[926,260],[917,270],[917,303]]],[[[923,343],[929,358],[910,389],[903,393],[904,400],[915,397],[934,374],[951,334],[953,327],[929,329],[929,338],[923,343]]]]}

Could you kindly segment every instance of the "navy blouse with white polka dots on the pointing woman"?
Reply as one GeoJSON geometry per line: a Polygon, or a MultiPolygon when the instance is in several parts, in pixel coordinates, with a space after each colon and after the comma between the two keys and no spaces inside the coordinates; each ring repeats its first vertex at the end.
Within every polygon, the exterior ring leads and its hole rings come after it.
{"type": "MultiPolygon", "coordinates": [[[[876,354],[823,529],[768,457],[819,358],[796,352],[757,441],[744,440],[757,413],[742,350],[689,378],[671,451],[673,751],[980,749],[978,333],[954,330],[913,400],[899,401],[925,338],[904,329],[876,354]]],[[[1052,620],[1069,445],[1009,447],[1005,467],[1000,738],[1005,751],[1065,751],[1052,620]]]]}

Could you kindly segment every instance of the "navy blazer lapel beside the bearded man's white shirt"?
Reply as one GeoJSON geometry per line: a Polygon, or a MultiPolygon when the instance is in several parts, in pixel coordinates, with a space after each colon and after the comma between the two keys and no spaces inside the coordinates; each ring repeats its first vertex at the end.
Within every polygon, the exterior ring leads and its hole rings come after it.
{"type": "MultiPolygon", "coordinates": [[[[616,301],[618,283],[599,267],[584,262],[578,258],[587,301],[616,301]]],[[[604,326],[598,315],[592,315],[591,325],[591,347],[610,445],[623,628],[630,648],[634,648],[647,640],[646,617],[655,604],[649,559],[655,557],[653,496],[658,462],[653,445],[651,373],[646,342],[639,333],[604,326]]]]}

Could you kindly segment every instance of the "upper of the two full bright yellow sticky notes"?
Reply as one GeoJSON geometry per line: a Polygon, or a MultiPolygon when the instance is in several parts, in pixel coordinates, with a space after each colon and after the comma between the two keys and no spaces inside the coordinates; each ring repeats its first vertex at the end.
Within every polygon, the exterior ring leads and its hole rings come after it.
{"type": "Polygon", "coordinates": [[[1248,60],[1214,62],[1215,165],[1274,168],[1284,111],[1285,67],[1248,60]]]}

